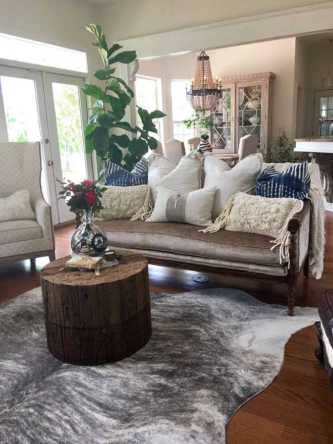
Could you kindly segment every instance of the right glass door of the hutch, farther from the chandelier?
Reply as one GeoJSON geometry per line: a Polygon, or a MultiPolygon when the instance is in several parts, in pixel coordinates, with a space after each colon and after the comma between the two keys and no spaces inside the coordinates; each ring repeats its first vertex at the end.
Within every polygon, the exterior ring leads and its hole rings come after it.
{"type": "Polygon", "coordinates": [[[247,82],[236,84],[236,129],[237,129],[237,151],[239,140],[247,134],[252,134],[259,138],[261,145],[261,113],[262,113],[262,83],[247,82]]]}

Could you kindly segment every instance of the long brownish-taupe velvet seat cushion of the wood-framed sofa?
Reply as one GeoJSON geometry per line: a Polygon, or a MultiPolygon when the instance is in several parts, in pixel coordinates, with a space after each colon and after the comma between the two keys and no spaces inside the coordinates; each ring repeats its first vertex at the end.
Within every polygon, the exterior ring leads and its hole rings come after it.
{"type": "Polygon", "coordinates": [[[143,220],[101,220],[98,222],[113,247],[128,247],[190,256],[279,266],[279,251],[271,251],[273,238],[253,233],[219,230],[199,233],[198,227],[176,222],[147,224],[143,220]]]}

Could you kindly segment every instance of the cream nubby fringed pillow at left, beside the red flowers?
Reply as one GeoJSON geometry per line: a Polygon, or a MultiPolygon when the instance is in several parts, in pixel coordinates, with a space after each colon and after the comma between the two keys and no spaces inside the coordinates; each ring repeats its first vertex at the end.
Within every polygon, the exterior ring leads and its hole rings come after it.
{"type": "MultiPolygon", "coordinates": [[[[147,207],[146,211],[149,212],[150,190],[148,185],[105,188],[107,189],[100,199],[104,209],[95,214],[94,220],[130,219],[144,207],[147,207]]],[[[137,218],[140,218],[140,215],[137,218]]]]}

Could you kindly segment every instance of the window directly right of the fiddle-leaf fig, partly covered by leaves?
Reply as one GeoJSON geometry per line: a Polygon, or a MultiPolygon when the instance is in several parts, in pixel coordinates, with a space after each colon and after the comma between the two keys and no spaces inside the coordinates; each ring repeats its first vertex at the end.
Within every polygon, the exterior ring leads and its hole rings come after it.
{"type": "MultiPolygon", "coordinates": [[[[155,109],[161,109],[162,106],[161,106],[160,97],[161,97],[160,79],[155,79],[153,77],[136,76],[135,98],[138,106],[146,109],[148,113],[155,111],[155,109]]],[[[138,126],[142,128],[142,122],[139,114],[137,114],[137,121],[138,121],[138,126]]],[[[153,123],[156,126],[157,134],[151,133],[150,135],[153,136],[155,139],[161,141],[163,138],[162,119],[154,119],[153,123]]]]}

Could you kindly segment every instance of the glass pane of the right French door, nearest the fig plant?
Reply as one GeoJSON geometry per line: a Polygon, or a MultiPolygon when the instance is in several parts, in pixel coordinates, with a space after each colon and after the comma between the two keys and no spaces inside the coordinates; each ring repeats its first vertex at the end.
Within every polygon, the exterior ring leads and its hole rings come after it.
{"type": "Polygon", "coordinates": [[[78,86],[52,83],[52,91],[63,180],[82,182],[87,179],[87,168],[78,86]]]}

